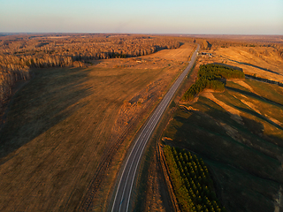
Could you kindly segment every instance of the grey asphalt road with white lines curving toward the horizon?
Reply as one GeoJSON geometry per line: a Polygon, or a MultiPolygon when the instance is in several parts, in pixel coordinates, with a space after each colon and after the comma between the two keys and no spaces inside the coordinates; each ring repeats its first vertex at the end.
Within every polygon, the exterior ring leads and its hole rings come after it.
{"type": "Polygon", "coordinates": [[[180,87],[182,80],[186,77],[188,71],[195,63],[196,52],[199,50],[199,48],[200,46],[197,45],[197,48],[191,57],[191,61],[187,65],[187,68],[174,82],[168,93],[164,96],[164,99],[157,106],[157,109],[149,117],[146,125],[142,127],[141,133],[138,133],[138,137],[134,140],[134,148],[132,148],[130,155],[126,158],[124,170],[119,178],[119,186],[117,188],[115,199],[112,205],[112,212],[128,211],[131,200],[131,192],[134,185],[134,178],[142,157],[143,150],[146,147],[151,133],[153,133],[155,127],[157,126],[160,117],[162,117],[164,110],[171,101],[172,96],[175,94],[178,87],[180,87]]]}

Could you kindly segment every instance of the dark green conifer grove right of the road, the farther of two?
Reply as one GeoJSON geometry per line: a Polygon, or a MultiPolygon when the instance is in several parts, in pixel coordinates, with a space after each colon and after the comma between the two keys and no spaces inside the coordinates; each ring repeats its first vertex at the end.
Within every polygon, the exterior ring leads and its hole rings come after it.
{"type": "Polygon", "coordinates": [[[204,89],[224,91],[225,83],[221,79],[244,79],[242,70],[236,70],[221,64],[202,64],[195,83],[183,95],[184,101],[191,101],[204,89]]]}

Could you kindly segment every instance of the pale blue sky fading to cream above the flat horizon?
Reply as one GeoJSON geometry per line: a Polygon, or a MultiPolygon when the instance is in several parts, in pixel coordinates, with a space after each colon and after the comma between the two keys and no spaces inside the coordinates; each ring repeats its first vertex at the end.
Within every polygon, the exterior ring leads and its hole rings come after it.
{"type": "Polygon", "coordinates": [[[0,0],[0,33],[283,34],[283,0],[0,0]]]}

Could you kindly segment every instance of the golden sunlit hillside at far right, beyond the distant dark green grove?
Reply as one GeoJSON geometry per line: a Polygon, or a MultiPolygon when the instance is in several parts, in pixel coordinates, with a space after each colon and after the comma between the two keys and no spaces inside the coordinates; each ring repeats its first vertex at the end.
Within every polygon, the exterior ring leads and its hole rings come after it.
{"type": "MultiPolygon", "coordinates": [[[[233,36],[231,37],[233,38],[233,36]]],[[[238,40],[231,40],[230,42],[220,39],[211,40],[210,49],[203,49],[203,51],[211,53],[212,56],[202,56],[200,62],[203,64],[230,64],[242,68],[246,74],[282,83],[282,38],[273,38],[272,36],[270,39],[268,38],[266,36],[257,41],[256,36],[247,38],[238,36],[238,40]]]]}

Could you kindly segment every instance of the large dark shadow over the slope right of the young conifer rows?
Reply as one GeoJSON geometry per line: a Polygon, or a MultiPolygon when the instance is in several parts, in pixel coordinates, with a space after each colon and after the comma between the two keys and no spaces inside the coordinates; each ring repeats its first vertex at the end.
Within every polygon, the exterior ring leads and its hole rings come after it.
{"type": "Polygon", "coordinates": [[[275,144],[283,140],[263,135],[264,125],[256,120],[244,118],[241,125],[214,102],[203,100],[199,102],[205,112],[176,111],[164,133],[172,141],[166,142],[203,158],[227,211],[273,212],[274,197],[283,185],[278,160],[283,148],[275,144]]]}

